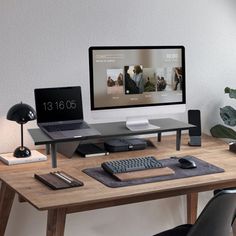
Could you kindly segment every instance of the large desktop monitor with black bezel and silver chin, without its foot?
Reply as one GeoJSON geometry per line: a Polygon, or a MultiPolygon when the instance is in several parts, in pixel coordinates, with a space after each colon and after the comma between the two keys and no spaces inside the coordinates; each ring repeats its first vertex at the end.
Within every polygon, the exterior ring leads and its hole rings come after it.
{"type": "Polygon", "coordinates": [[[89,68],[93,118],[185,109],[184,46],[90,47],[89,68]]]}

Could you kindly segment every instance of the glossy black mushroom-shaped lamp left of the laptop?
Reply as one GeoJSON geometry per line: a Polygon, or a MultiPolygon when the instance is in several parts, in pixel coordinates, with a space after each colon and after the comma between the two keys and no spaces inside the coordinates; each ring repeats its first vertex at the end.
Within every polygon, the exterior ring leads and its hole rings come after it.
{"type": "Polygon", "coordinates": [[[15,149],[14,157],[29,157],[31,151],[23,145],[23,124],[35,120],[36,112],[31,106],[21,102],[10,108],[7,113],[7,119],[16,121],[21,125],[21,146],[15,149]]]}

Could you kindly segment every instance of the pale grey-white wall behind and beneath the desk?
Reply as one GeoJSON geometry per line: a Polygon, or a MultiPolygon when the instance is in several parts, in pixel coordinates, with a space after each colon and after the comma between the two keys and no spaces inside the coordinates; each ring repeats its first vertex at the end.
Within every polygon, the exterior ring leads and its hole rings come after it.
{"type": "MultiPolygon", "coordinates": [[[[5,119],[9,107],[20,101],[34,106],[36,87],[81,85],[90,118],[92,45],[185,45],[187,108],[201,110],[209,132],[220,122],[223,88],[236,88],[235,12],[234,0],[0,0],[0,153],[19,145],[18,125],[5,119]]],[[[173,117],[186,120],[186,114],[173,117]]],[[[25,140],[33,147],[27,132],[25,140]]],[[[210,193],[201,196],[204,205],[210,193]]],[[[151,235],[184,222],[183,201],[73,214],[66,235],[151,235]]],[[[45,213],[17,202],[13,207],[7,235],[44,234],[45,213]]]]}

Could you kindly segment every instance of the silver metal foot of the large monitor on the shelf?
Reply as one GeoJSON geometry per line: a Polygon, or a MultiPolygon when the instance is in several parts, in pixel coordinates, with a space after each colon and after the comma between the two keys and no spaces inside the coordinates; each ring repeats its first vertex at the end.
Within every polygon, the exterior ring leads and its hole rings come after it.
{"type": "Polygon", "coordinates": [[[148,129],[159,129],[159,126],[152,125],[146,117],[127,117],[126,127],[131,131],[142,131],[148,129]]]}

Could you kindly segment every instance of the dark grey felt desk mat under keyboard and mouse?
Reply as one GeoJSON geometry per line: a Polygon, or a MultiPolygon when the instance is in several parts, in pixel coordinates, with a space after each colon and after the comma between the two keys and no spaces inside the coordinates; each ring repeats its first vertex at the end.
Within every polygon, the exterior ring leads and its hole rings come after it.
{"type": "Polygon", "coordinates": [[[112,175],[105,172],[102,169],[102,167],[87,168],[87,169],[84,169],[83,172],[111,188],[125,187],[125,186],[137,185],[137,184],[145,184],[145,183],[152,183],[152,182],[158,182],[158,181],[164,181],[164,180],[180,179],[180,178],[187,178],[187,177],[193,177],[193,176],[199,176],[199,175],[208,175],[208,174],[224,172],[224,169],[219,168],[215,165],[212,165],[208,162],[202,161],[194,156],[188,156],[188,158],[195,161],[197,168],[181,169],[178,164],[179,163],[178,159],[176,158],[162,159],[159,161],[163,164],[163,166],[171,168],[172,170],[175,171],[175,173],[172,175],[156,176],[156,177],[149,177],[149,178],[144,178],[144,179],[132,179],[128,181],[119,181],[112,175]]]}

